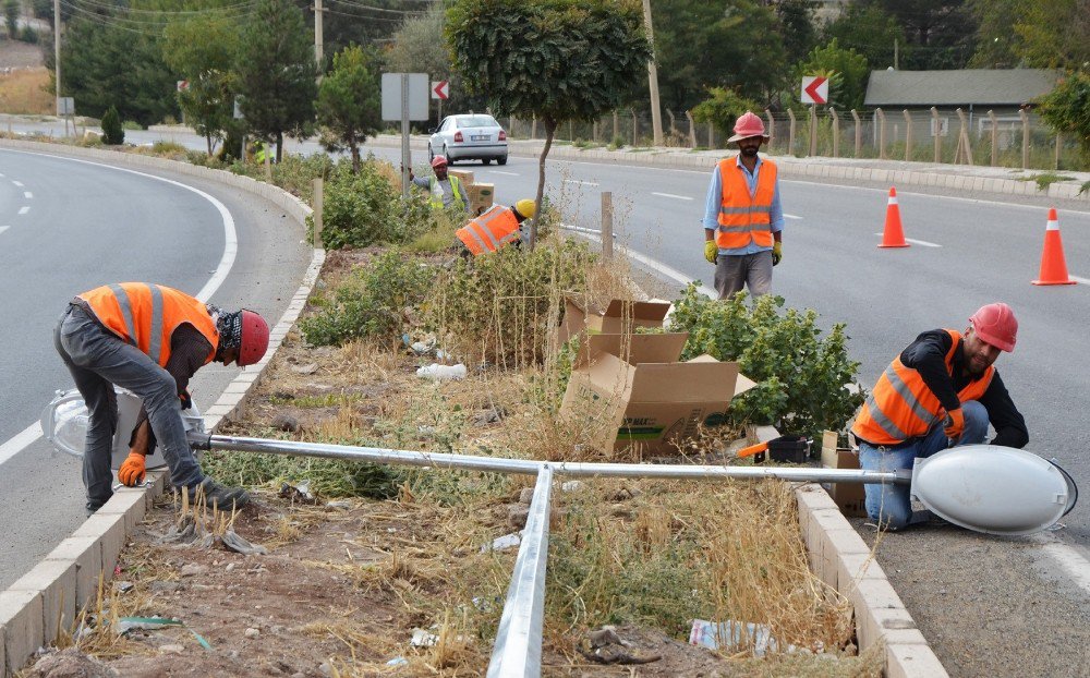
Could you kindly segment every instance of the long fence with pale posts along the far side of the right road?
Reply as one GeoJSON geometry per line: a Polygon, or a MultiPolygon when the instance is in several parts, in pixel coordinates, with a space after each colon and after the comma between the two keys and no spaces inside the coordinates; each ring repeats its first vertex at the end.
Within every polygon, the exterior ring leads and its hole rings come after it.
{"type": "MultiPolygon", "coordinates": [[[[791,112],[763,114],[773,155],[876,158],[1049,170],[1087,170],[1078,140],[1053,132],[1028,111],[980,113],[962,109],[848,111],[819,110],[813,118],[791,112]]],[[[533,120],[501,123],[514,138],[544,138],[533,120]]],[[[727,135],[688,111],[664,109],[663,145],[727,149],[727,135]]],[[[647,147],[653,145],[651,113],[622,109],[589,123],[569,122],[555,142],[574,145],[647,147]]]]}

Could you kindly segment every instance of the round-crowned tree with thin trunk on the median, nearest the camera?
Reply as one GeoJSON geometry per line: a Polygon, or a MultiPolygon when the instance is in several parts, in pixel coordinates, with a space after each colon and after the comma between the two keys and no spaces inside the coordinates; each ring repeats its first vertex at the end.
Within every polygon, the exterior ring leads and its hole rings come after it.
{"type": "MultiPolygon", "coordinates": [[[[447,35],[456,70],[494,114],[535,116],[545,128],[538,213],[557,126],[623,104],[651,58],[643,11],[630,0],[458,0],[447,35]]],[[[536,240],[535,219],[531,247],[536,240]]]]}

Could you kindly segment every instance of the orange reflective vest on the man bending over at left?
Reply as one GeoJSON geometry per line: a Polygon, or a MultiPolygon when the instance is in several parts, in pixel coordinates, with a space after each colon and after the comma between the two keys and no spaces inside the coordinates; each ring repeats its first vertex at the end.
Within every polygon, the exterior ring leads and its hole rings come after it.
{"type": "Polygon", "coordinates": [[[160,367],[170,360],[170,338],[189,323],[211,344],[207,365],[216,356],[219,331],[204,302],[184,292],[145,282],[104,284],[80,299],[90,305],[98,320],[126,343],[146,353],[160,367]]]}

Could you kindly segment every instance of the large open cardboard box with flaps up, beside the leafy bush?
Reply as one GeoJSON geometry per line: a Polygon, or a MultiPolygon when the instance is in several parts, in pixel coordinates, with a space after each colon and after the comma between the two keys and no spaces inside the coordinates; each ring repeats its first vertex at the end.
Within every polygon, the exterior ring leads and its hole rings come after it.
{"type": "Polygon", "coordinates": [[[700,424],[718,423],[730,400],[755,386],[739,373],[738,363],[711,355],[677,362],[685,340],[683,334],[590,335],[589,350],[572,368],[560,415],[601,422],[592,443],[603,450],[676,453],[700,424]],[[622,341],[630,341],[625,344],[628,361],[609,352],[622,341]]]}

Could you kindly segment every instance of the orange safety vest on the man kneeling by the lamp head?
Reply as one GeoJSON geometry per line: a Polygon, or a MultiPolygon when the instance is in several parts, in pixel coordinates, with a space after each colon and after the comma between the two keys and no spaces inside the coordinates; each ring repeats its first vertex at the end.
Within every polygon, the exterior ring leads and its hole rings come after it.
{"type": "MultiPolygon", "coordinates": [[[[962,337],[955,329],[946,331],[954,340],[954,346],[946,353],[946,371],[953,375],[954,355],[961,346],[962,337]]],[[[988,390],[994,374],[995,367],[989,366],[983,376],[969,382],[958,392],[958,400],[978,400],[988,390]]],[[[906,367],[897,355],[879,377],[851,426],[851,433],[872,445],[897,445],[925,435],[944,416],[938,398],[923,383],[920,373],[906,367]]]]}

